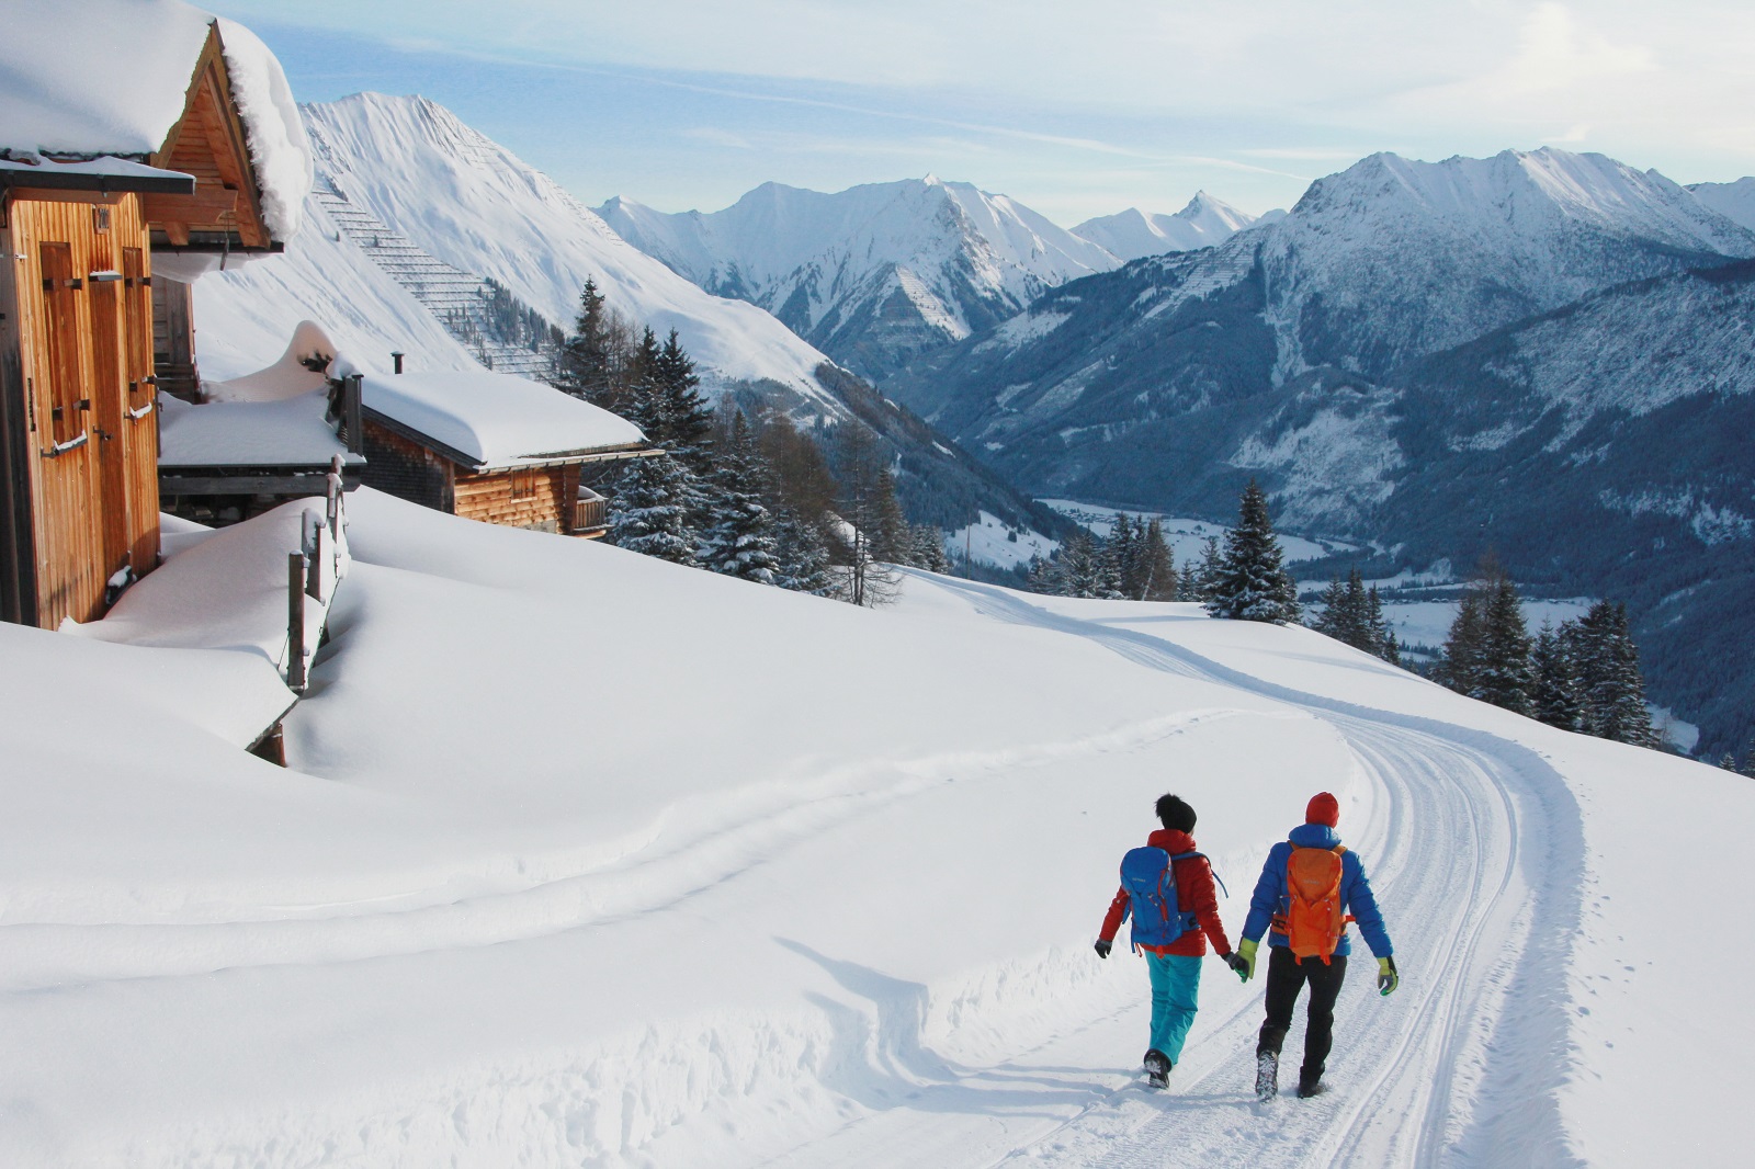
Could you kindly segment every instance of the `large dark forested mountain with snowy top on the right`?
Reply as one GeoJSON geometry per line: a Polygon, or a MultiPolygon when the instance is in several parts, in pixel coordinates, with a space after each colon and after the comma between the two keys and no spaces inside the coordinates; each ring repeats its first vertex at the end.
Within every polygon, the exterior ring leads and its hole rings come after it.
{"type": "Polygon", "coordinates": [[[1225,516],[1258,477],[1283,523],[1383,549],[1383,576],[1494,549],[1629,600],[1657,699],[1723,749],[1755,693],[1741,190],[1555,149],[1374,154],[885,391],[1037,495],[1225,516]]]}

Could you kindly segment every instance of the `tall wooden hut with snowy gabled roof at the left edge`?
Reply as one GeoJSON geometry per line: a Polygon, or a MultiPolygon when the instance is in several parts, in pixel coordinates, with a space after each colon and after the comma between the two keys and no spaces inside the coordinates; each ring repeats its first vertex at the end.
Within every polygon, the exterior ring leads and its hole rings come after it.
{"type": "Polygon", "coordinates": [[[54,627],[156,565],[184,284],[283,247],[311,156],[279,63],[232,21],[177,0],[0,18],[0,618],[54,627]]]}

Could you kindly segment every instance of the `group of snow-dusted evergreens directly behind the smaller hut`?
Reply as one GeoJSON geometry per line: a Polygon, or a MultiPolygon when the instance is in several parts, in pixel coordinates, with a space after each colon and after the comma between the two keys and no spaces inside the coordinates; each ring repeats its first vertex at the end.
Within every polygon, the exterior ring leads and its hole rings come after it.
{"type": "Polygon", "coordinates": [[[634,421],[658,455],[607,486],[618,548],[862,606],[890,600],[895,565],[948,570],[944,534],[909,525],[878,437],[818,441],[779,412],[714,414],[676,330],[635,337],[586,281],[555,384],[634,421]]]}

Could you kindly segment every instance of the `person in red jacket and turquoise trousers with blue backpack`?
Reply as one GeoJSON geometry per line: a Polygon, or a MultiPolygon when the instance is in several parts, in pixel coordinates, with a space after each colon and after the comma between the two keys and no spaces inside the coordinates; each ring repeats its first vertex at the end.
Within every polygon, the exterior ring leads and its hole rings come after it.
{"type": "Polygon", "coordinates": [[[1132,914],[1132,944],[1135,953],[1144,951],[1151,974],[1151,1048],[1144,1064],[1153,1087],[1162,1088],[1195,1022],[1207,939],[1239,978],[1244,964],[1218,920],[1213,865],[1195,851],[1195,809],[1174,795],[1160,795],[1157,813],[1164,827],[1121,862],[1121,890],[1102,920],[1097,957],[1109,957],[1116,930],[1132,914]]]}

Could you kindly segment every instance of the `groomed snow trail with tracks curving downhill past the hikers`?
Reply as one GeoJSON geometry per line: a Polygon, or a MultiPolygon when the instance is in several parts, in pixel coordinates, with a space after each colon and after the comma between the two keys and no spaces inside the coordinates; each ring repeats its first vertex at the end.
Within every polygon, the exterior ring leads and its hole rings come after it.
{"type": "MultiPolygon", "coordinates": [[[[1260,1104],[1250,1092],[1255,981],[1244,1006],[1220,1018],[1204,1008],[1169,1092],[1113,1092],[997,1162],[969,1164],[1581,1164],[1555,1094],[1565,1074],[1564,939],[1580,916],[1583,832],[1571,793],[1539,755],[1488,732],[1286,690],[1125,621],[1065,616],[981,584],[932,583],[993,620],[1085,637],[1135,663],[1329,721],[1378,793],[1369,820],[1343,825],[1343,836],[1367,872],[1392,874],[1379,876],[1379,888],[1393,890],[1379,899],[1402,967],[1397,993],[1379,997],[1376,964],[1355,937],[1323,1097],[1290,1094],[1304,1000],[1286,1039],[1281,1097],[1260,1104]]],[[[1243,888],[1234,895],[1246,899],[1253,879],[1236,874],[1243,888]]],[[[1227,918],[1241,920],[1241,909],[1227,918]]]]}

